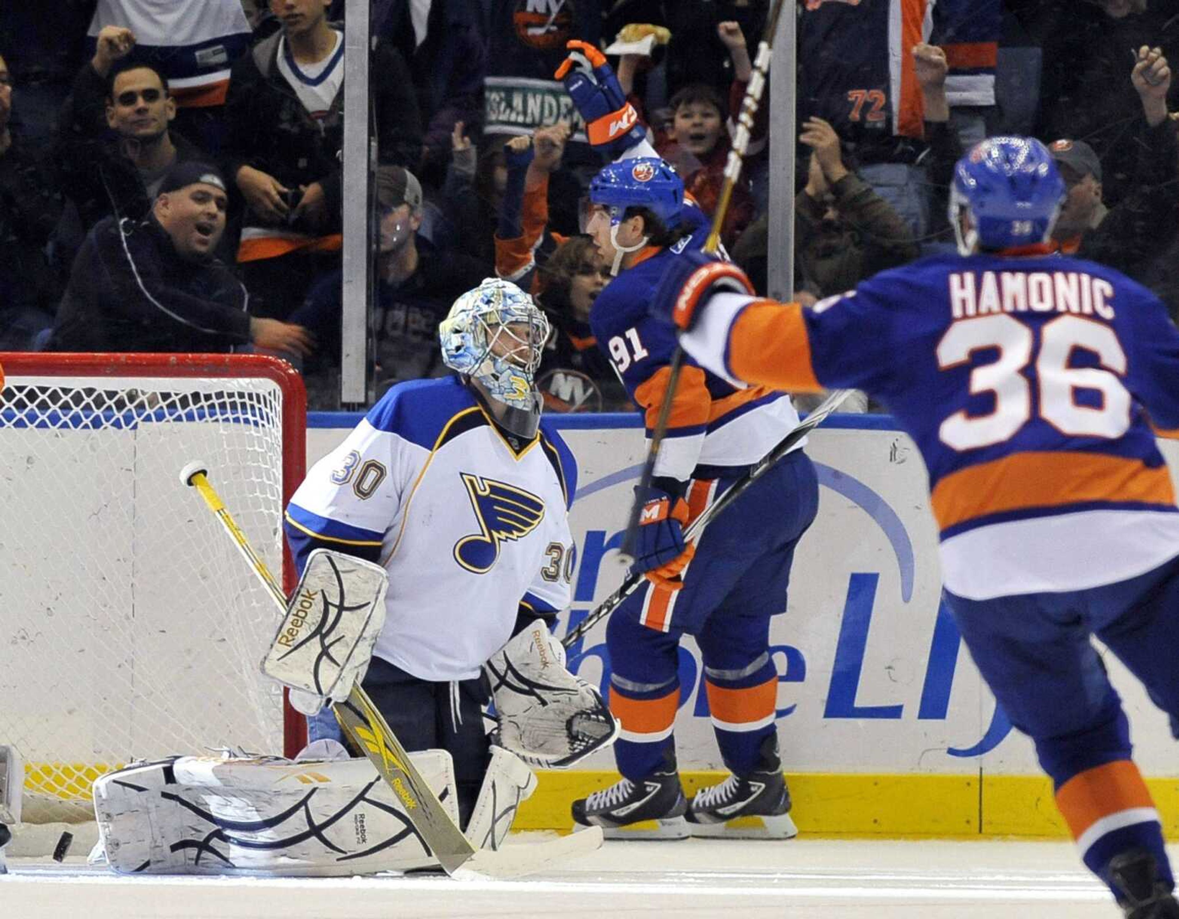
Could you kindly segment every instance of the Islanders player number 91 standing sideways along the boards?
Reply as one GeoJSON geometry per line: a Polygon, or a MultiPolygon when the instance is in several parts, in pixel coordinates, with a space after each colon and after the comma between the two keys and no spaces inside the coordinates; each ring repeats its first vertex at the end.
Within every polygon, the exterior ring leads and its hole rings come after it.
{"type": "MultiPolygon", "coordinates": [[[[650,430],[676,337],[647,306],[665,267],[693,245],[694,224],[685,219],[683,183],[658,158],[606,166],[590,198],[587,229],[614,275],[594,300],[590,325],[650,430]]],[[[815,469],[795,450],[711,523],[699,546],[684,540],[684,528],[797,423],[784,394],[733,386],[694,362],[684,368],[652,487],[641,495],[634,569],[647,574],[647,583],[606,630],[623,778],[575,801],[578,822],[623,838],[795,834],[778,755],[769,632],[770,617],[786,608],[795,547],[815,518],[815,469]],[[717,743],[731,773],[691,802],[672,736],[684,635],[700,648],[717,743]]]]}

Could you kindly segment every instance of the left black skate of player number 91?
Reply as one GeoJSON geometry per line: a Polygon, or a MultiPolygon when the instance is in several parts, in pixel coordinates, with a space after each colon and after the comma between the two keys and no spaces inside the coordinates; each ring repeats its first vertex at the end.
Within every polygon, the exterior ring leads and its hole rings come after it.
{"type": "Polygon", "coordinates": [[[620,779],[574,801],[573,820],[602,827],[606,839],[687,839],[686,811],[687,799],[671,754],[641,781],[620,779]]]}

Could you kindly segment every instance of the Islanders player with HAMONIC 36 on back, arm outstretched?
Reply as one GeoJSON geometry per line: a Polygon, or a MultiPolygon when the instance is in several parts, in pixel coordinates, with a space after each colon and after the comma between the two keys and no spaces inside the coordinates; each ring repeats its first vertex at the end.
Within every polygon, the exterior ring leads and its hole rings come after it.
{"type": "Polygon", "coordinates": [[[929,472],[947,602],[1085,864],[1131,919],[1174,919],[1159,814],[1089,639],[1179,728],[1179,511],[1155,442],[1179,429],[1179,331],[1145,287],[1050,253],[1063,197],[1039,141],[993,138],[955,170],[960,256],[812,309],[689,256],[652,309],[722,378],[889,405],[929,472]]]}

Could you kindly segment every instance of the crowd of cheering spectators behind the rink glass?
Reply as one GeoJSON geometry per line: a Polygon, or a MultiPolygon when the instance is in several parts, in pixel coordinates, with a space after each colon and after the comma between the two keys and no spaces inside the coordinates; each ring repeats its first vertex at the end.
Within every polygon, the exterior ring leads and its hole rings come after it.
{"type": "MultiPolygon", "coordinates": [[[[342,0],[60,0],[0,14],[0,350],[278,353],[338,389],[342,0]],[[163,11],[163,12],[162,12],[163,11]]],[[[652,146],[711,217],[769,0],[371,0],[378,389],[443,372],[435,332],[500,275],[554,330],[558,410],[620,409],[581,232],[604,165],[554,71],[604,51],[652,146]]],[[[793,286],[803,300],[953,246],[954,163],[1049,144],[1053,245],[1179,313],[1179,0],[798,0],[793,286]]],[[[765,291],[766,94],[722,226],[765,291]]],[[[778,137],[775,132],[775,138],[778,137]]],[[[780,141],[778,141],[780,143],[780,141]]]]}

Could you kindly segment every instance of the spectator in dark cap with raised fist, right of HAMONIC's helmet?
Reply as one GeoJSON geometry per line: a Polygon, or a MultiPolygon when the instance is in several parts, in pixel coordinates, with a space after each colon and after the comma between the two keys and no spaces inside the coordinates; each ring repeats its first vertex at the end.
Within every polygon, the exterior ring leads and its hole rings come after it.
{"type": "Polygon", "coordinates": [[[1118,205],[1107,209],[1101,198],[1101,159],[1093,147],[1071,139],[1050,144],[1048,150],[1068,189],[1052,242],[1065,254],[1100,262],[1141,280],[1150,262],[1174,237],[1179,145],[1167,118],[1171,67],[1159,48],[1138,51],[1131,81],[1145,117],[1125,148],[1133,181],[1118,205]]]}

